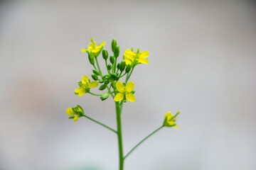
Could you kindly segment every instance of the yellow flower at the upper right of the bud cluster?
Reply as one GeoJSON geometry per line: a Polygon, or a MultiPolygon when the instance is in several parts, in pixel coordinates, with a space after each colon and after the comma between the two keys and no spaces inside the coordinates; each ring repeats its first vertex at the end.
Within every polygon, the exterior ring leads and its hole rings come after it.
{"type": "Polygon", "coordinates": [[[139,48],[137,49],[137,52],[132,52],[131,50],[127,49],[124,52],[124,61],[126,64],[149,64],[149,60],[146,59],[148,56],[149,52],[139,52],[139,48]]]}

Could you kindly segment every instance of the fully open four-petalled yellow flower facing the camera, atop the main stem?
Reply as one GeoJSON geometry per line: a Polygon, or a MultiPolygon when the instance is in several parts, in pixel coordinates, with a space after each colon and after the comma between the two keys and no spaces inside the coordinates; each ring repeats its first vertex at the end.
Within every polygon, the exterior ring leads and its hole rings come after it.
{"type": "Polygon", "coordinates": [[[129,83],[126,86],[124,86],[124,84],[122,84],[121,81],[117,81],[116,87],[119,93],[116,94],[116,96],[114,96],[114,101],[122,101],[124,97],[128,101],[136,101],[134,94],[131,93],[132,90],[134,89],[134,82],[129,81],[129,83]]]}

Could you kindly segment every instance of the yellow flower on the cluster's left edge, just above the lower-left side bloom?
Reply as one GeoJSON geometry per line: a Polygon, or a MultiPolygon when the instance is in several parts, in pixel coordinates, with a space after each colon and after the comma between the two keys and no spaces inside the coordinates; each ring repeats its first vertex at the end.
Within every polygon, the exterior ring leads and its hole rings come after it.
{"type": "Polygon", "coordinates": [[[83,76],[82,81],[80,81],[80,83],[78,84],[80,88],[75,89],[75,94],[78,94],[78,96],[83,96],[90,89],[97,87],[99,85],[99,82],[98,81],[90,82],[87,76],[83,76]]]}

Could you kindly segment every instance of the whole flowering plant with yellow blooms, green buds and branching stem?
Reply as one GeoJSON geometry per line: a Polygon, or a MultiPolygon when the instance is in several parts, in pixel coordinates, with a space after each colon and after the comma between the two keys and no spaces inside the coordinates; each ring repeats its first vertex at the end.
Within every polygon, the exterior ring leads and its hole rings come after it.
{"type": "Polygon", "coordinates": [[[91,38],[90,45],[82,49],[81,52],[86,52],[88,56],[88,60],[92,65],[92,79],[91,81],[89,77],[86,75],[82,77],[81,81],[78,81],[78,89],[75,89],[75,94],[78,96],[84,96],[85,94],[91,94],[93,96],[100,97],[102,101],[105,101],[110,96],[114,101],[117,115],[117,130],[114,128],[110,128],[109,126],[100,123],[99,121],[90,118],[88,115],[85,115],[81,106],[75,106],[74,108],[68,108],[66,113],[70,116],[70,119],[73,119],[74,122],[78,121],[79,118],[84,117],[92,120],[93,122],[102,125],[103,127],[111,130],[112,132],[117,134],[118,140],[118,148],[119,148],[119,170],[124,169],[124,160],[136,149],[139,145],[142,144],[146,139],[154,135],[154,133],[158,132],[164,127],[174,127],[178,128],[176,125],[176,116],[179,114],[179,111],[172,115],[171,112],[167,112],[164,115],[164,122],[161,124],[159,128],[151,132],[151,134],[144,137],[137,145],[135,145],[127,154],[123,152],[123,141],[122,141],[122,119],[121,113],[124,103],[127,101],[134,102],[136,101],[136,97],[134,96],[134,82],[129,81],[132,73],[134,72],[134,68],[139,66],[139,64],[149,64],[149,52],[142,51],[138,48],[134,51],[133,48],[130,50],[127,49],[124,52],[124,55],[120,57],[119,45],[117,45],[117,40],[112,40],[112,55],[109,57],[109,52],[104,49],[105,41],[97,45],[97,43],[91,38]],[[106,74],[103,74],[100,69],[100,64],[98,62],[98,57],[102,53],[102,59],[105,60],[106,74]],[[122,58],[120,62],[117,59],[122,58]],[[123,79],[123,80],[121,80],[123,79]],[[92,88],[99,87],[99,91],[102,91],[100,94],[94,94],[90,91],[92,88]],[[105,91],[105,92],[103,92],[105,91]]]}

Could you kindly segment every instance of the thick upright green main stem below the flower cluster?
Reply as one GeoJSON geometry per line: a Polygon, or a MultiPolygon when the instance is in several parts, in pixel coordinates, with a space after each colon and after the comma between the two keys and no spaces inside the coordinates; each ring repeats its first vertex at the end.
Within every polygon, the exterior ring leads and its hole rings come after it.
{"type": "Polygon", "coordinates": [[[122,123],[121,123],[121,109],[119,102],[115,102],[116,112],[117,112],[117,137],[119,146],[119,170],[124,169],[124,154],[122,147],[122,123]]]}

